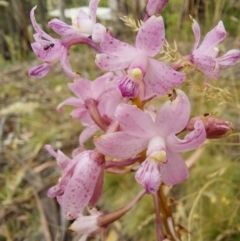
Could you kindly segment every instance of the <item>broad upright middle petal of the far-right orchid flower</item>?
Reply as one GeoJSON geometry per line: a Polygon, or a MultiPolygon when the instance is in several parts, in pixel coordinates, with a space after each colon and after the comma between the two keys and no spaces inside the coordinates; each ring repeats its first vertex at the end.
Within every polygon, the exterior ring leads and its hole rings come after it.
{"type": "Polygon", "coordinates": [[[208,54],[219,42],[226,37],[226,30],[223,22],[219,21],[217,26],[208,32],[201,45],[196,51],[199,54],[208,54]]]}

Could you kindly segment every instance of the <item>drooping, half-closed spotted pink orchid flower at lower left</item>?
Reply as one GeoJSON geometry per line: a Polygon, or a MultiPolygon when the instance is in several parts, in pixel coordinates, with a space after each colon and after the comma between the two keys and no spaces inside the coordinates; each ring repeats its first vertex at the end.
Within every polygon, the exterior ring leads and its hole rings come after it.
{"type": "Polygon", "coordinates": [[[97,151],[84,151],[72,160],[50,145],[47,151],[57,159],[63,175],[56,186],[48,190],[48,197],[57,197],[67,219],[75,219],[86,205],[95,206],[103,187],[105,160],[97,151]]]}

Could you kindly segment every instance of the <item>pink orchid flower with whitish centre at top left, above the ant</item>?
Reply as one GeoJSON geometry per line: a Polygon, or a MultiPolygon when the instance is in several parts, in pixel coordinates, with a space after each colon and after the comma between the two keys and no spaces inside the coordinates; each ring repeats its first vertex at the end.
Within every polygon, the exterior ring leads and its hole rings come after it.
{"type": "Polygon", "coordinates": [[[59,19],[53,19],[48,24],[61,36],[83,35],[89,37],[92,35],[94,42],[100,42],[106,28],[96,23],[96,12],[100,0],[91,0],[89,3],[90,16],[83,10],[79,10],[76,18],[72,19],[72,25],[68,25],[59,19]]]}

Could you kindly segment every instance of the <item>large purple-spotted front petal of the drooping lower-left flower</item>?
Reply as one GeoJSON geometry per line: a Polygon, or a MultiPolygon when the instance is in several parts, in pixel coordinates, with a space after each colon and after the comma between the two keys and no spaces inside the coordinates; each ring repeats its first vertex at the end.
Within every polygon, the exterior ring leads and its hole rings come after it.
{"type": "Polygon", "coordinates": [[[63,196],[63,213],[68,219],[75,219],[91,199],[101,165],[91,158],[92,151],[77,155],[78,162],[69,180],[63,196]]]}

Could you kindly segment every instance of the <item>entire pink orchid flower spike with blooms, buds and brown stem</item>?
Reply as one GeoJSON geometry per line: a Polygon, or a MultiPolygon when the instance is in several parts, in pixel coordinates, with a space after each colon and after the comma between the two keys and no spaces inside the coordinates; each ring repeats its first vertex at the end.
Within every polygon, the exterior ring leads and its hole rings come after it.
{"type": "Polygon", "coordinates": [[[222,22],[198,47],[200,27],[192,19],[196,41],[191,53],[179,54],[181,58],[172,66],[159,61],[166,39],[164,20],[158,14],[167,2],[148,1],[134,46],[116,39],[114,31],[97,23],[99,0],[90,1],[90,16],[80,10],[72,25],[51,20],[49,26],[61,36],[59,39],[52,38],[37,24],[36,7],[31,11],[36,31],[32,48],[43,64],[33,67],[29,74],[44,77],[60,61],[72,79],[68,88],[76,97],[60,103],[57,111],[63,112],[64,105],[73,106],[71,116],[83,126],[71,158],[46,145],[63,172],[59,182],[49,189],[48,196],[57,198],[64,216],[75,220],[70,230],[83,234],[83,238],[100,233],[104,240],[110,223],[130,211],[143,196],[152,195],[157,240],[181,240],[163,186],[177,185],[190,175],[181,153],[198,148],[206,138],[224,137],[232,131],[230,122],[208,115],[203,118],[199,113],[190,119],[191,103],[180,89],[186,74],[180,70],[190,66],[200,70],[204,78],[216,79],[219,69],[237,62],[240,51],[231,50],[216,57],[215,46],[226,35],[222,22]],[[96,51],[96,68],[106,71],[95,80],[72,70],[69,49],[80,44],[96,51]],[[167,100],[159,109],[151,108],[152,99],[164,97],[167,100]],[[182,139],[179,134],[184,131],[189,132],[182,139]],[[86,150],[88,140],[93,140],[92,150],[86,150]],[[126,206],[109,213],[96,208],[104,196],[105,171],[117,175],[135,172],[134,185],[140,189],[126,206]],[[86,216],[85,210],[90,215],[86,216]]]}

